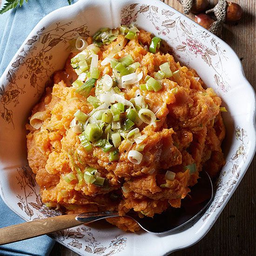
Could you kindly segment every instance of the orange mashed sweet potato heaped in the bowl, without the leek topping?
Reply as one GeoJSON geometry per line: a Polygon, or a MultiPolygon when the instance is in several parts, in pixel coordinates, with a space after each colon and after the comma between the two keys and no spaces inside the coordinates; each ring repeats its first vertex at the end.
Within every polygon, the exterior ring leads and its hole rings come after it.
{"type": "MultiPolygon", "coordinates": [[[[148,52],[143,45],[149,45],[151,34],[140,30],[138,38],[129,40],[126,46],[115,55],[119,59],[130,54],[141,64],[139,72],[144,84],[146,75],[154,76],[159,65],[169,62],[172,72],[178,75],[162,79],[162,89],[141,91],[148,108],[156,113],[160,120],[156,126],[143,124],[141,134],[148,135],[143,149],[143,158],[136,165],[128,161],[125,141],[119,146],[120,159],[110,162],[109,152],[93,147],[87,152],[82,147],[78,135],[70,128],[74,113],[80,109],[88,114],[93,106],[75,92],[70,86],[77,74],[70,65],[70,54],[64,70],[54,74],[54,86],[47,87],[40,102],[33,108],[32,114],[44,112],[47,118],[39,129],[27,124],[28,162],[36,174],[43,202],[61,206],[63,212],[80,213],[91,211],[117,210],[120,217],[107,221],[120,229],[135,232],[138,224],[124,216],[133,209],[139,216],[154,216],[168,207],[180,207],[182,199],[188,195],[200,176],[202,169],[211,177],[218,174],[225,160],[221,143],[225,128],[220,113],[221,99],[212,88],[206,88],[195,70],[182,67],[170,54],[158,51],[148,52]],[[142,44],[142,45],[141,45],[142,44]],[[175,88],[175,90],[173,90],[175,88]],[[173,93],[175,91],[175,93],[173,93]],[[72,161],[70,160],[71,158],[72,161]],[[184,168],[196,164],[196,172],[190,174],[184,168]],[[63,175],[76,174],[74,164],[82,171],[93,167],[108,180],[108,187],[88,184],[85,181],[65,181],[63,175]],[[175,179],[165,180],[165,173],[175,173],[175,179]],[[168,183],[168,187],[161,187],[168,183]],[[122,189],[121,189],[122,188],[122,189]]],[[[107,46],[102,46],[99,63],[123,39],[123,35],[107,46]]],[[[92,38],[87,39],[88,44],[92,38]]],[[[98,65],[101,75],[112,75],[110,64],[98,65]]],[[[127,100],[135,97],[138,86],[121,89],[127,100]]],[[[94,88],[90,92],[94,96],[94,88]]]]}

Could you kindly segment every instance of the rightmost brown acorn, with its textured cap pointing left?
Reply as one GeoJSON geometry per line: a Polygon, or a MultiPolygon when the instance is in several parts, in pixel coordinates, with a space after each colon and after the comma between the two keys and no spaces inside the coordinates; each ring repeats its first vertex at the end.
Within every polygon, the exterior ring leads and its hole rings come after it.
{"type": "Polygon", "coordinates": [[[238,21],[243,16],[243,9],[240,5],[227,2],[225,0],[219,0],[216,6],[213,9],[210,9],[205,12],[206,14],[214,13],[217,20],[225,21],[238,21]]]}

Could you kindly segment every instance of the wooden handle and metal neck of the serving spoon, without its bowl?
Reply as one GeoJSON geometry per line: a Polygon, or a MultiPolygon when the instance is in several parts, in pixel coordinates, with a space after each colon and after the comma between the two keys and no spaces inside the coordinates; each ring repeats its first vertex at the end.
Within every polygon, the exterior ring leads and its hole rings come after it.
{"type": "Polygon", "coordinates": [[[93,222],[113,216],[113,212],[80,214],[79,216],[82,216],[83,218],[79,220],[76,220],[77,216],[78,214],[61,215],[2,228],[0,229],[0,245],[49,234],[61,229],[73,228],[82,223],[93,222]]]}

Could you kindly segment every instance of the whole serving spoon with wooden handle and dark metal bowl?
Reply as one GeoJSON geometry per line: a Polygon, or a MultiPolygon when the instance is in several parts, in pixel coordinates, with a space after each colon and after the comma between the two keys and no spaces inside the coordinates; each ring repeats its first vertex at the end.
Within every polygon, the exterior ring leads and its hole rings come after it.
{"type": "MultiPolygon", "coordinates": [[[[134,219],[142,229],[153,234],[165,234],[181,228],[199,216],[213,198],[213,187],[209,175],[202,171],[200,177],[195,186],[191,188],[189,195],[182,200],[181,208],[170,208],[162,214],[156,214],[153,218],[140,218],[134,211],[128,212],[126,216],[134,219]]],[[[24,222],[0,229],[0,245],[115,216],[119,216],[117,212],[105,211],[62,215],[24,222]]]]}

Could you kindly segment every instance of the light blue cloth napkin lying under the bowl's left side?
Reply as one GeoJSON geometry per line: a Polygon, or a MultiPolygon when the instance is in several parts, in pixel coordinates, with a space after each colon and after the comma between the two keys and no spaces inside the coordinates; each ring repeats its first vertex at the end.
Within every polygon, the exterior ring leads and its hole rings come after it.
{"type": "MultiPolygon", "coordinates": [[[[76,2],[76,0],[73,0],[76,2]]],[[[2,1],[2,5],[5,0],[2,1]]],[[[28,0],[23,7],[0,15],[0,76],[34,26],[48,13],[67,6],[67,0],[28,0]]],[[[24,222],[0,198],[0,228],[24,222]]],[[[0,246],[0,255],[47,256],[54,246],[48,236],[0,246]]]]}

